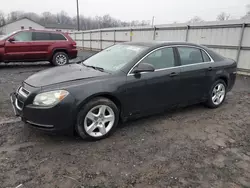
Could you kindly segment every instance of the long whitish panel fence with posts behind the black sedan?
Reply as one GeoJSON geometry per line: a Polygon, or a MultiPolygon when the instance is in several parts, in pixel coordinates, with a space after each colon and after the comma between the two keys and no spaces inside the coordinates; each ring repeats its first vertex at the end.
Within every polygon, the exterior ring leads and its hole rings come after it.
{"type": "Polygon", "coordinates": [[[108,28],[70,33],[79,48],[99,51],[127,41],[186,41],[207,46],[238,62],[250,73],[250,21],[172,24],[155,27],[108,28]]]}

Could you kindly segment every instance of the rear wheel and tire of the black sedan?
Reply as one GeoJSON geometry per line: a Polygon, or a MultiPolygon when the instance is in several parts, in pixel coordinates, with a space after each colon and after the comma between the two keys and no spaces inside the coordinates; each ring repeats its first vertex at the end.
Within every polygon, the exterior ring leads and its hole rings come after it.
{"type": "Polygon", "coordinates": [[[218,108],[223,104],[227,95],[226,83],[219,79],[211,87],[206,105],[209,108],[218,108]]]}

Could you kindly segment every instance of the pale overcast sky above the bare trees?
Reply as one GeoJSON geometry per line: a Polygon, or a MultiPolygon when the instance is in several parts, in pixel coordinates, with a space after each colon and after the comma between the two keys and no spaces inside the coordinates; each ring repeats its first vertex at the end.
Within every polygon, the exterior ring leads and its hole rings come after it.
{"type": "MultiPolygon", "coordinates": [[[[66,11],[76,15],[76,0],[1,0],[0,10],[41,13],[66,11]]],[[[85,16],[111,16],[125,20],[151,20],[155,24],[186,22],[194,16],[215,20],[220,12],[230,13],[238,19],[246,12],[250,0],[79,0],[80,14],[85,16]]]]}

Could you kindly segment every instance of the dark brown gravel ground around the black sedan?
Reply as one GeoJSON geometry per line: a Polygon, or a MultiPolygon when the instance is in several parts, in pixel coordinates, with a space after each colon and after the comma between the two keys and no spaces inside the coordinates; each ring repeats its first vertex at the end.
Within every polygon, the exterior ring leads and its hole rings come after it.
{"type": "Polygon", "coordinates": [[[250,187],[250,78],[239,76],[218,109],[176,109],[86,142],[13,116],[9,93],[49,67],[0,64],[0,187],[250,187]]]}

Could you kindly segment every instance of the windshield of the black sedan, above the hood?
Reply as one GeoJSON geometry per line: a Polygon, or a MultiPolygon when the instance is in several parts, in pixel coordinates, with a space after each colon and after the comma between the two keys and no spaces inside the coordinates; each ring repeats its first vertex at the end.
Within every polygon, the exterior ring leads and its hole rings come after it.
{"type": "Polygon", "coordinates": [[[144,49],[144,46],[117,44],[90,57],[84,61],[84,65],[114,72],[124,67],[144,49]]]}

